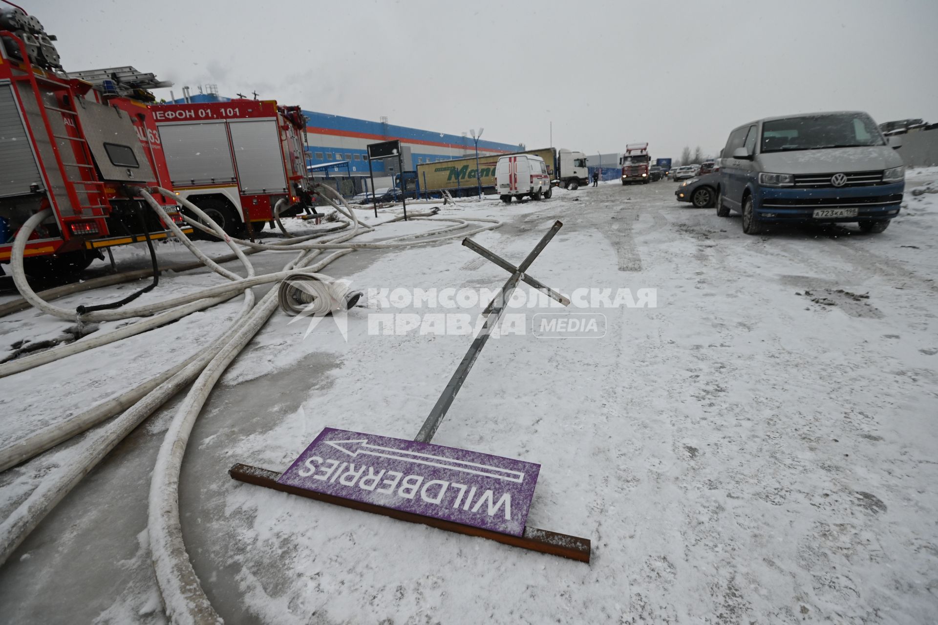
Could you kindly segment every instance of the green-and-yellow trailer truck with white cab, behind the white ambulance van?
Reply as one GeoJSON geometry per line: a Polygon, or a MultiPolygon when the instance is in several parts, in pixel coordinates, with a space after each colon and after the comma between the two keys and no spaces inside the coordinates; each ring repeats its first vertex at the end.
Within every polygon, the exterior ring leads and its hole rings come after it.
{"type": "Polygon", "coordinates": [[[478,157],[463,157],[453,160],[437,160],[420,163],[416,166],[417,183],[421,191],[439,193],[448,191],[454,195],[474,194],[478,190],[478,180],[482,183],[483,193],[495,193],[495,166],[499,157],[533,154],[547,163],[548,175],[552,185],[567,189],[577,189],[586,185],[589,175],[586,170],[586,155],[567,149],[557,150],[544,147],[537,150],[524,150],[507,154],[494,154],[478,157]]]}

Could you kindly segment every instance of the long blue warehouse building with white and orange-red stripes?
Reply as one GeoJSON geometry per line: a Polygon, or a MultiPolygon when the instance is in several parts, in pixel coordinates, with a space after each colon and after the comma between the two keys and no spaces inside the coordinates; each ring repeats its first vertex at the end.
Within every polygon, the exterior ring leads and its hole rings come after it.
{"type": "MultiPolygon", "coordinates": [[[[197,94],[189,97],[190,102],[229,101],[215,94],[197,94]]],[[[174,99],[182,104],[184,99],[174,99]]],[[[289,102],[280,102],[286,103],[289,102]]],[[[476,153],[476,144],[465,134],[446,134],[432,130],[418,130],[406,126],[389,124],[386,118],[381,121],[368,121],[341,115],[303,111],[307,121],[306,159],[310,173],[315,177],[357,177],[368,176],[366,146],[380,141],[401,141],[403,167],[405,171],[416,170],[424,162],[437,160],[461,159],[476,153]]],[[[494,141],[479,140],[479,156],[516,152],[519,145],[501,144],[494,141]]],[[[372,163],[375,176],[387,176],[397,173],[396,160],[375,161],[372,163]]]]}

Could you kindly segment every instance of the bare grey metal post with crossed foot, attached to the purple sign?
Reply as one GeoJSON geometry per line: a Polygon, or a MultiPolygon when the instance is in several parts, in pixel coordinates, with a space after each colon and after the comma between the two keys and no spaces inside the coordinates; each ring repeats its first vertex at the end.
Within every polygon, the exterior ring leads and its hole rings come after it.
{"type": "Polygon", "coordinates": [[[514,292],[515,287],[518,286],[518,282],[525,282],[530,284],[537,290],[542,291],[549,297],[559,301],[564,306],[567,306],[570,303],[570,300],[567,297],[564,297],[560,293],[554,291],[552,288],[524,273],[527,268],[531,267],[531,264],[534,263],[535,259],[537,258],[537,254],[544,250],[547,244],[551,242],[553,236],[557,234],[557,231],[560,230],[563,225],[564,224],[561,221],[554,221],[551,229],[547,232],[546,235],[541,237],[540,241],[538,241],[537,245],[534,247],[534,250],[532,250],[527,255],[527,257],[522,261],[522,264],[518,267],[513,266],[504,258],[489,252],[481,245],[478,245],[476,242],[468,238],[462,239],[462,245],[466,246],[474,252],[477,252],[483,258],[489,259],[498,267],[502,267],[503,269],[510,271],[511,277],[508,278],[508,281],[505,282],[505,286],[502,287],[501,291],[495,295],[495,298],[492,299],[489,305],[485,308],[485,311],[482,312],[482,314],[487,315],[485,325],[479,331],[476,339],[469,346],[469,351],[467,351],[466,355],[462,357],[462,361],[460,362],[459,367],[456,368],[456,373],[453,373],[452,377],[449,378],[449,382],[446,383],[446,388],[443,389],[443,393],[440,395],[440,399],[436,400],[436,404],[433,405],[433,409],[430,411],[430,415],[420,427],[420,432],[416,434],[416,438],[414,440],[420,443],[429,443],[433,438],[433,434],[436,434],[437,428],[440,427],[440,422],[443,421],[444,417],[446,417],[446,411],[449,410],[449,406],[452,405],[453,400],[456,399],[456,393],[460,391],[462,383],[465,382],[466,376],[472,369],[473,364],[476,363],[476,358],[478,358],[479,352],[482,350],[482,347],[485,345],[485,343],[489,341],[489,336],[492,334],[492,328],[498,324],[498,319],[502,316],[502,313],[505,312],[505,309],[507,309],[507,302],[511,298],[511,294],[514,292]]]}

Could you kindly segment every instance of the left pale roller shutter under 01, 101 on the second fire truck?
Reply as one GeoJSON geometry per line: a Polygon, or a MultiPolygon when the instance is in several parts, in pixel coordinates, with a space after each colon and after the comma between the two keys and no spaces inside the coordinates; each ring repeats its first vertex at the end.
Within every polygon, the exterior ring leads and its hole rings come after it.
{"type": "Polygon", "coordinates": [[[159,142],[174,187],[234,183],[225,123],[160,124],[159,142]]]}

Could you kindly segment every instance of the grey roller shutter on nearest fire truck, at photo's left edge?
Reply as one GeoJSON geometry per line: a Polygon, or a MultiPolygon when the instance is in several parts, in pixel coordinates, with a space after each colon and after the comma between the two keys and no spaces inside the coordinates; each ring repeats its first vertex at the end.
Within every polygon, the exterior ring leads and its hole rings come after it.
{"type": "Polygon", "coordinates": [[[12,87],[0,84],[0,197],[26,195],[44,187],[12,87]]]}

